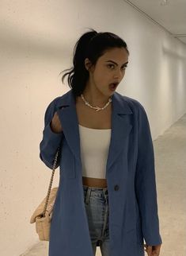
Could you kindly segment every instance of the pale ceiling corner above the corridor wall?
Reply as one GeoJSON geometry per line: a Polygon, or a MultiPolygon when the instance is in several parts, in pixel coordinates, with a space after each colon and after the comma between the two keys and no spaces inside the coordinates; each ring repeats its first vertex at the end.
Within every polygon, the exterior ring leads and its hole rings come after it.
{"type": "Polygon", "coordinates": [[[123,0],[186,45],[186,0],[123,0]]]}

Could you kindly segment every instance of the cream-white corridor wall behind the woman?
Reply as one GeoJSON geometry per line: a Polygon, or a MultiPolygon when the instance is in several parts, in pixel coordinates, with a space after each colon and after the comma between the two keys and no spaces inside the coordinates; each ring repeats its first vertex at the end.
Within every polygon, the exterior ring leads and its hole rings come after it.
{"type": "Polygon", "coordinates": [[[117,91],[142,103],[153,139],[186,111],[186,47],[121,0],[2,0],[0,21],[0,254],[18,256],[38,241],[29,219],[51,177],[39,158],[44,111],[70,89],[59,72],[78,37],[91,27],[127,41],[117,91]]]}

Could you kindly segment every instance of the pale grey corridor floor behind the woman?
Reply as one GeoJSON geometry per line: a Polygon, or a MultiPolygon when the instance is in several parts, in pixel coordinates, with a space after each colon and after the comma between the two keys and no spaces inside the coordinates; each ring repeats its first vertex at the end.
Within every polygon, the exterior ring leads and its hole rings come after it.
{"type": "MultiPolygon", "coordinates": [[[[163,240],[160,255],[186,256],[186,114],[154,141],[154,156],[163,240]]],[[[20,256],[47,256],[47,250],[48,242],[38,242],[20,256]]],[[[99,247],[97,256],[101,256],[99,247]]]]}

